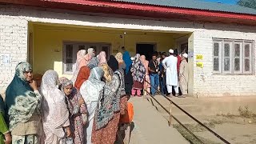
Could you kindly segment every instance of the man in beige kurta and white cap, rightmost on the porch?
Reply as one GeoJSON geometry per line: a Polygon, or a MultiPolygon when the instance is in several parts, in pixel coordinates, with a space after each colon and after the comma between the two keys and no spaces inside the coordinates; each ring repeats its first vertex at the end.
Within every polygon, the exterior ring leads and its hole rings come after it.
{"type": "Polygon", "coordinates": [[[186,62],[187,54],[182,54],[182,62],[179,66],[179,73],[178,73],[178,82],[179,86],[182,90],[182,96],[180,98],[185,98],[187,95],[187,85],[189,80],[189,67],[188,63],[186,62]]]}

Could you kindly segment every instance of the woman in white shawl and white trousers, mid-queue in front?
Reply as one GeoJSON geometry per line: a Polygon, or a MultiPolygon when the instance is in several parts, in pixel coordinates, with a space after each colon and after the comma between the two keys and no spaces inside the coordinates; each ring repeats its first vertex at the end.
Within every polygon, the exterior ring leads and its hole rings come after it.
{"type": "Polygon", "coordinates": [[[81,86],[80,93],[82,98],[86,102],[87,111],[89,114],[88,121],[84,133],[86,134],[86,142],[91,143],[91,133],[94,124],[94,114],[98,105],[98,98],[102,98],[103,86],[105,82],[102,82],[102,76],[104,72],[102,68],[95,67],[90,71],[89,79],[81,86]]]}

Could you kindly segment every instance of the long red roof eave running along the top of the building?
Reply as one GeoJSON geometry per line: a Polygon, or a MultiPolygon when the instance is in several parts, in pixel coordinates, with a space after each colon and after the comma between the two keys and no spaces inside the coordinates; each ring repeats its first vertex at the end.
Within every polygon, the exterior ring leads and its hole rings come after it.
{"type": "Polygon", "coordinates": [[[150,6],[127,2],[106,2],[98,0],[0,0],[0,2],[93,13],[124,14],[150,18],[175,18],[194,22],[237,23],[256,26],[256,15],[253,14],[150,6]]]}

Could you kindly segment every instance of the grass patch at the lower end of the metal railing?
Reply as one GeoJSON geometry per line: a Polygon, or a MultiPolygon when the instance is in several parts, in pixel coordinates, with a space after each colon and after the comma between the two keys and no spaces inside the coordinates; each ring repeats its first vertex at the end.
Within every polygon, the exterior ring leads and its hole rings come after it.
{"type": "MultiPolygon", "coordinates": [[[[192,134],[190,134],[186,129],[184,129],[183,126],[179,125],[179,124],[175,124],[173,125],[175,129],[178,130],[178,132],[180,134],[182,134],[182,136],[184,138],[186,138],[187,141],[189,141],[190,143],[194,143],[194,144],[198,144],[198,143],[201,143],[199,142],[196,138],[194,138],[194,136],[192,134]]],[[[193,133],[194,132],[202,132],[202,131],[205,131],[205,130],[202,130],[204,129],[202,126],[200,128],[200,126],[198,125],[193,125],[193,124],[185,124],[185,126],[190,130],[192,131],[193,133]]],[[[207,139],[207,138],[202,138],[198,135],[196,135],[203,143],[207,143],[207,144],[218,144],[218,142],[213,142],[211,141],[210,139],[207,139]]]]}

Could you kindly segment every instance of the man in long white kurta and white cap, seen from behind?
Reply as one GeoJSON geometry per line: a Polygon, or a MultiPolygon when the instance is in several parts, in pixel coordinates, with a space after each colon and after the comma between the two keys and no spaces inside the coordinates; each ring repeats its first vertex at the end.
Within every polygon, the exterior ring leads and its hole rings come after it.
{"type": "Polygon", "coordinates": [[[174,86],[175,96],[178,96],[178,72],[177,62],[178,58],[174,57],[174,50],[169,50],[170,56],[162,61],[162,65],[166,69],[166,87],[168,95],[172,94],[172,86],[174,86]]]}

